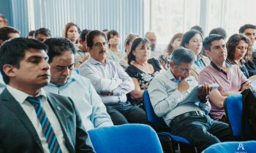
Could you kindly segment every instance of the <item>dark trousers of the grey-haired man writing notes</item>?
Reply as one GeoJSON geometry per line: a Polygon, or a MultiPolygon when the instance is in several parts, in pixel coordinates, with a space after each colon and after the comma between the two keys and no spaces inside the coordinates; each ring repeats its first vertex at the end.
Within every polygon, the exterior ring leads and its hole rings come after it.
{"type": "Polygon", "coordinates": [[[225,122],[218,122],[207,116],[189,116],[170,123],[174,135],[186,138],[199,152],[211,144],[221,141],[235,141],[230,127],[225,122]]]}

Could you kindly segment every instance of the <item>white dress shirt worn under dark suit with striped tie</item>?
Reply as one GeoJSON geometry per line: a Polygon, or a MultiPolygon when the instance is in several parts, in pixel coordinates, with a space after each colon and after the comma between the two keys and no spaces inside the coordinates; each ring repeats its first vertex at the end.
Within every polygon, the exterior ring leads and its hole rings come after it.
{"type": "MultiPolygon", "coordinates": [[[[37,118],[37,114],[34,109],[34,106],[28,101],[26,101],[26,98],[28,98],[31,95],[23,93],[22,91],[17,90],[14,87],[10,87],[9,85],[7,85],[7,90],[11,93],[11,95],[15,98],[15,100],[18,101],[18,103],[20,103],[20,106],[25,111],[26,115],[29,117],[32,125],[34,125],[34,129],[37,131],[37,135],[39,136],[39,140],[41,141],[43,151],[45,153],[50,153],[45,135],[44,133],[42,133],[42,125],[40,124],[39,119],[37,118]]],[[[59,142],[61,151],[63,153],[68,152],[67,147],[64,145],[65,140],[64,140],[64,134],[62,133],[62,130],[61,130],[61,125],[59,124],[59,120],[57,119],[56,114],[54,114],[53,109],[51,109],[50,104],[47,101],[45,91],[40,90],[38,95],[42,95],[42,99],[41,99],[42,108],[45,110],[45,114],[47,115],[50,121],[50,125],[53,127],[53,131],[59,142]]]]}

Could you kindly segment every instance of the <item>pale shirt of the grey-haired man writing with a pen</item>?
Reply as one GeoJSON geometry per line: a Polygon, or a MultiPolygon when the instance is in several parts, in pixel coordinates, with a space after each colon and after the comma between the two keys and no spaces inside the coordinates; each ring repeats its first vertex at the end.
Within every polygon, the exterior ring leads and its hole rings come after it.
{"type": "Polygon", "coordinates": [[[148,86],[148,94],[151,100],[151,104],[154,108],[154,112],[158,117],[163,117],[166,124],[169,126],[171,119],[184,114],[188,111],[205,111],[208,114],[211,106],[209,102],[206,103],[182,103],[182,99],[185,98],[192,89],[197,85],[197,81],[194,76],[189,76],[188,79],[192,79],[189,82],[189,90],[181,93],[178,90],[178,82],[173,76],[170,69],[158,74],[151,81],[148,86]]]}

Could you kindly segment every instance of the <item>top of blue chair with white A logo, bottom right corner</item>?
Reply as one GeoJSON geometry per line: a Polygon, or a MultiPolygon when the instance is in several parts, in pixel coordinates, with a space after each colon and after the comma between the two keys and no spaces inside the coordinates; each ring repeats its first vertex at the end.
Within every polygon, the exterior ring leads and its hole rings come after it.
{"type": "Polygon", "coordinates": [[[229,142],[222,142],[222,143],[208,146],[208,148],[205,149],[203,152],[204,153],[219,153],[219,152],[254,153],[255,148],[256,148],[256,141],[229,141],[229,142]]]}

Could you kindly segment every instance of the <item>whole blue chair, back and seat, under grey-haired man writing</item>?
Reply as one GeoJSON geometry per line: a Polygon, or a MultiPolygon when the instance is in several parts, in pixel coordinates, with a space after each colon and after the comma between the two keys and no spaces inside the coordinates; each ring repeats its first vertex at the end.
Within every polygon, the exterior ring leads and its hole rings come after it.
{"type": "MultiPolygon", "coordinates": [[[[158,132],[157,134],[159,136],[160,141],[169,142],[170,149],[172,149],[171,152],[175,152],[176,143],[182,144],[182,146],[184,146],[185,148],[188,148],[189,152],[195,152],[195,150],[191,150],[191,149],[194,149],[194,147],[191,147],[187,139],[182,138],[181,136],[175,136],[171,134],[170,128],[167,127],[164,119],[162,119],[162,117],[157,117],[157,114],[155,114],[154,109],[151,105],[151,101],[148,95],[148,90],[145,90],[143,93],[143,101],[144,101],[148,124],[151,125],[151,127],[153,127],[154,130],[158,132]]],[[[181,149],[181,152],[182,152],[182,149],[181,149]]],[[[188,150],[184,149],[184,152],[188,152],[188,150]]]]}

